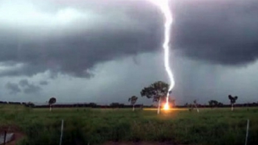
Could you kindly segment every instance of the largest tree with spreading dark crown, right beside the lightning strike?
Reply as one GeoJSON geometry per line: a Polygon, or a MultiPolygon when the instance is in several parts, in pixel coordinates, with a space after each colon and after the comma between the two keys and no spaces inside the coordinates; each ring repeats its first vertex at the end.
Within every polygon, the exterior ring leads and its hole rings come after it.
{"type": "Polygon", "coordinates": [[[158,114],[160,113],[160,101],[167,97],[169,85],[163,81],[157,81],[147,88],[143,88],[140,92],[142,97],[152,98],[153,101],[158,102],[158,114]]]}

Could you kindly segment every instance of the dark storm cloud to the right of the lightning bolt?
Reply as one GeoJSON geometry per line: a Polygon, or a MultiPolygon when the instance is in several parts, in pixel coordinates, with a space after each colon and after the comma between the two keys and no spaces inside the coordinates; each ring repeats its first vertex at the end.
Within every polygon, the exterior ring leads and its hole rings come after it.
{"type": "Polygon", "coordinates": [[[187,1],[174,7],[176,47],[193,59],[241,65],[258,57],[258,1],[187,1]]]}

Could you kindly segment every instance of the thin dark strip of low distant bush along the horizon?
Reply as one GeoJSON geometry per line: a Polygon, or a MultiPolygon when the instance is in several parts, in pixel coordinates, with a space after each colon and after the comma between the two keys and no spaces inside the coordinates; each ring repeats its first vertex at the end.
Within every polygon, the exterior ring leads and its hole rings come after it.
{"type": "MultiPolygon", "coordinates": [[[[12,101],[0,101],[0,104],[15,104],[15,105],[25,105],[33,108],[49,108],[48,104],[45,105],[35,105],[32,102],[12,102],[12,101]]],[[[191,104],[185,104],[182,106],[175,106],[176,108],[188,108],[191,104]]],[[[198,108],[211,108],[210,105],[197,104],[198,108]]],[[[234,104],[234,107],[255,107],[258,106],[258,102],[245,103],[245,104],[234,104]]],[[[98,105],[93,102],[82,103],[82,104],[55,104],[54,108],[133,108],[133,105],[125,105],[117,102],[111,103],[109,105],[98,105]]],[[[156,108],[154,105],[142,105],[136,104],[135,108],[156,108]]],[[[212,108],[230,108],[231,104],[219,104],[218,106],[212,106],[212,108]]]]}

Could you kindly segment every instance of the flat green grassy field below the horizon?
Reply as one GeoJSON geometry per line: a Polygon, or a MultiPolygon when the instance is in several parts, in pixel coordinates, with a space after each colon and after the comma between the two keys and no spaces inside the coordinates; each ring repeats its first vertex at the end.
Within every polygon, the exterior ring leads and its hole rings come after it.
{"type": "MultiPolygon", "coordinates": [[[[109,142],[165,142],[167,144],[258,144],[258,108],[203,108],[200,113],[175,109],[156,115],[155,109],[48,108],[0,105],[0,128],[24,133],[17,144],[110,144],[109,142]],[[14,129],[15,128],[15,129],[14,129]]],[[[129,143],[131,144],[131,143],[129,143]]]]}

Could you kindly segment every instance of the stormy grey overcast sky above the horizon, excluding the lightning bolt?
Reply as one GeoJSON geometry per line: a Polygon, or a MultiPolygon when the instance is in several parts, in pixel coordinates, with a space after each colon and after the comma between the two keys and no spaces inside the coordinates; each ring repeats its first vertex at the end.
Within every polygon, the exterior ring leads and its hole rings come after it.
{"type": "MultiPolygon", "coordinates": [[[[176,103],[257,102],[258,1],[172,0],[170,8],[176,103]]],[[[127,103],[155,81],[169,83],[163,30],[147,0],[1,0],[0,100],[127,103]]]]}

